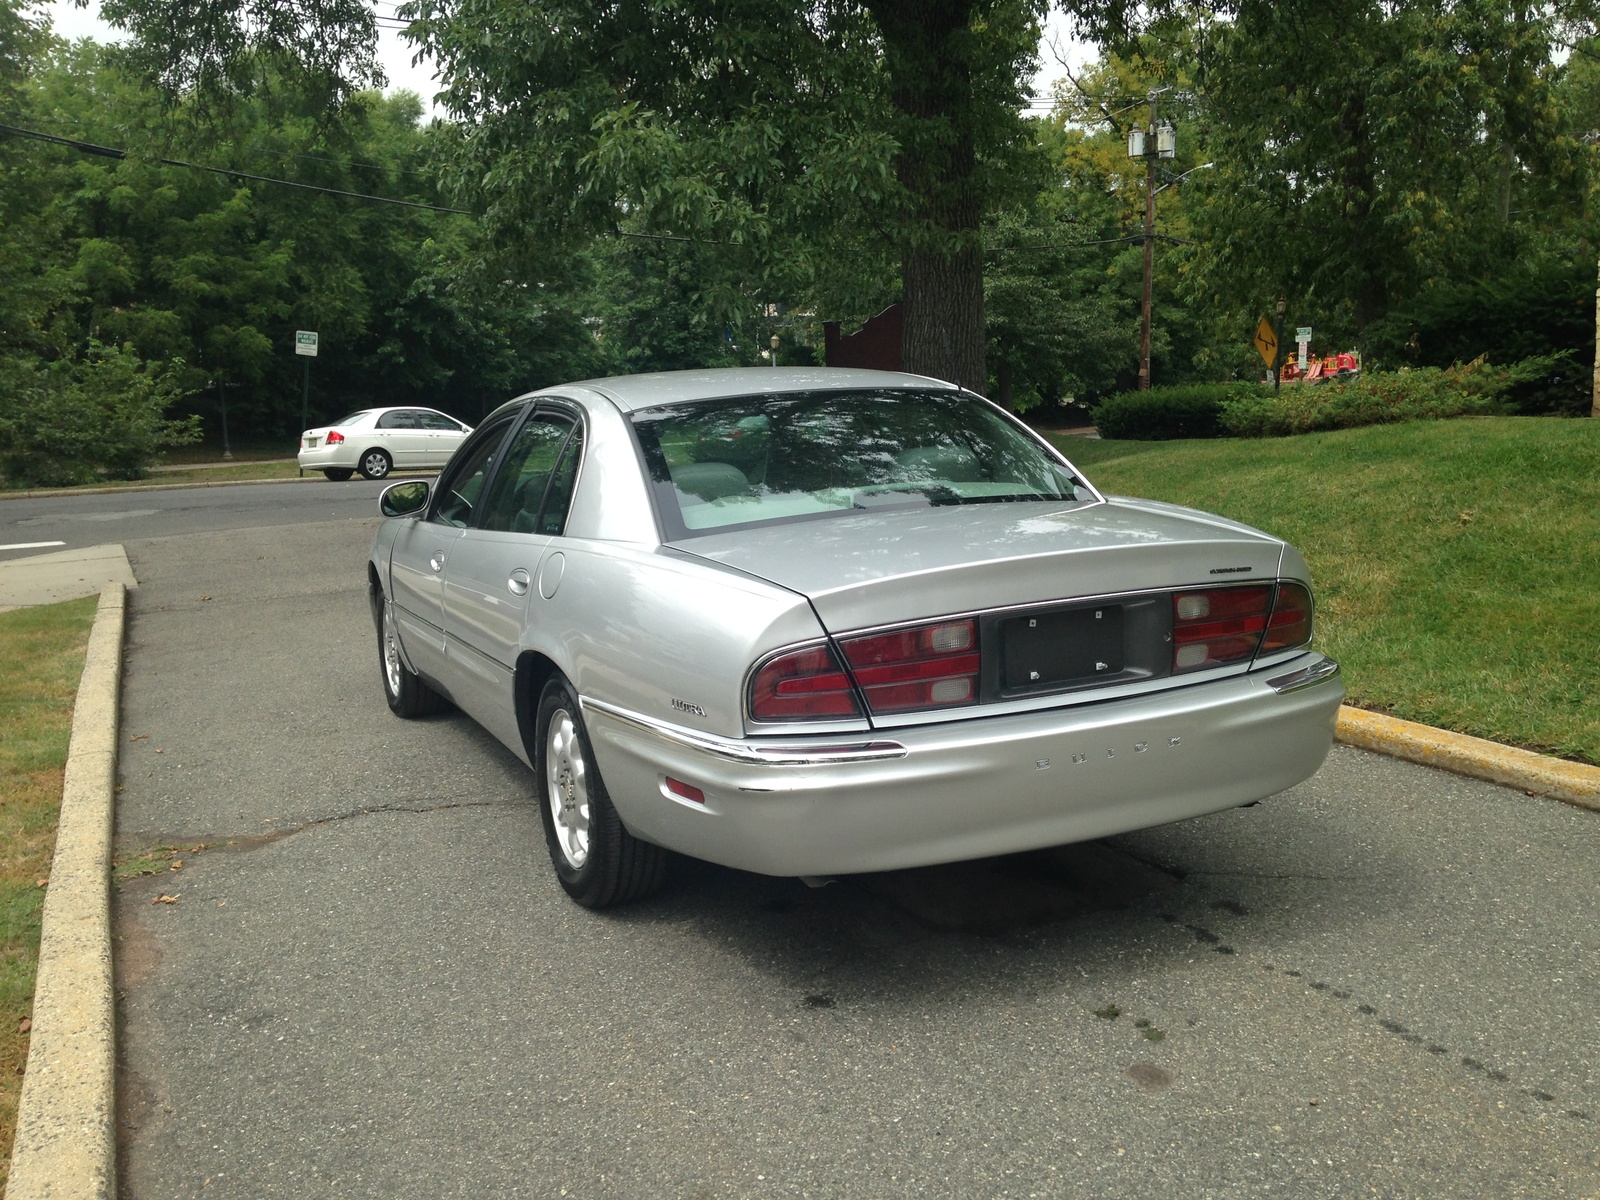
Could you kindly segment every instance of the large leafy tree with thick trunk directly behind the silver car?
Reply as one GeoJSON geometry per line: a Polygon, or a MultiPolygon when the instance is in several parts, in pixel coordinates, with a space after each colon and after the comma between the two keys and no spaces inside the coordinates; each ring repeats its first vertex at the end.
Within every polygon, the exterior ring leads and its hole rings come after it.
{"type": "MultiPolygon", "coordinates": [[[[248,94],[307,14],[366,69],[336,3],[107,0],[173,93],[248,94]],[[182,10],[182,11],[179,11],[182,10]],[[258,32],[262,30],[262,32],[258,32]]],[[[1019,83],[1045,0],[413,0],[462,125],[456,194],[525,274],[622,227],[734,246],[760,291],[832,288],[840,251],[901,264],[907,365],[986,386],[982,213],[1016,178],[1019,83]]],[[[320,94],[344,98],[326,83],[320,94]]],[[[712,314],[712,318],[725,314],[712,314]]]]}

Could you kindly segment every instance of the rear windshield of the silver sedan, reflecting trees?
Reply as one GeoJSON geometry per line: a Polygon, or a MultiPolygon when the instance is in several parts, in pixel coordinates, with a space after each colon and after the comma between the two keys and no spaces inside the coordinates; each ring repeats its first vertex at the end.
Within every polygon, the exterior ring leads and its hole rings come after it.
{"type": "Polygon", "coordinates": [[[989,405],[939,392],[755,395],[634,414],[669,536],[947,504],[1086,501],[989,405]]]}

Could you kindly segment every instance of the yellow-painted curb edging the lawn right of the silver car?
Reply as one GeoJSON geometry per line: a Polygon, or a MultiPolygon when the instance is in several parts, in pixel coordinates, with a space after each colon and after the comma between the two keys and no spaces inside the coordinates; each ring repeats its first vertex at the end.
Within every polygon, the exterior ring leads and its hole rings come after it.
{"type": "Polygon", "coordinates": [[[1600,766],[1570,763],[1515,746],[1501,746],[1464,733],[1382,717],[1376,712],[1339,706],[1336,736],[1347,746],[1378,750],[1424,766],[1438,766],[1474,779],[1488,779],[1525,792],[1565,800],[1600,811],[1600,766]]]}

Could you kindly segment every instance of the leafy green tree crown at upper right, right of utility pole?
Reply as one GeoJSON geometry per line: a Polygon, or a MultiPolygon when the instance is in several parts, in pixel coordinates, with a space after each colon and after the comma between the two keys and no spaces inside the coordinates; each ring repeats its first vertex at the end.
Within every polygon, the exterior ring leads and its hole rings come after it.
{"type": "Polygon", "coordinates": [[[1242,0],[1200,29],[1214,302],[1362,338],[1432,280],[1514,259],[1576,179],[1554,18],[1510,0],[1242,0]]]}

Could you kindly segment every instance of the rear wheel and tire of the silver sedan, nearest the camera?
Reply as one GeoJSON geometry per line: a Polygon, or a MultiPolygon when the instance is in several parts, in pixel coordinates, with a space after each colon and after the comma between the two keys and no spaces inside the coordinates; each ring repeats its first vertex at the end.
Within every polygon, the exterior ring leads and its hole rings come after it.
{"type": "Polygon", "coordinates": [[[566,894],[586,909],[605,909],[656,891],[669,853],[622,827],[589,749],[578,696],[560,675],[539,696],[534,731],[539,818],[566,894]]]}

